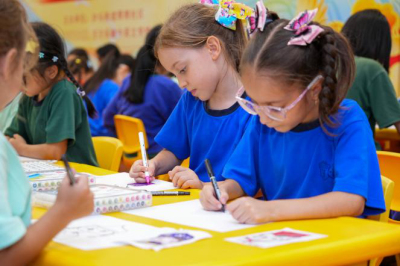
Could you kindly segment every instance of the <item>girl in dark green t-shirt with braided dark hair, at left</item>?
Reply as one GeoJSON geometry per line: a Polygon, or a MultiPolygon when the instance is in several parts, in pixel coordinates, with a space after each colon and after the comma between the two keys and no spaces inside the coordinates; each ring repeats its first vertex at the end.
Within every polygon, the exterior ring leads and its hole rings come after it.
{"type": "Polygon", "coordinates": [[[32,27],[39,41],[39,60],[24,75],[25,95],[5,135],[21,156],[59,160],[66,153],[71,162],[96,166],[82,99],[90,116],[96,110],[67,67],[60,35],[45,23],[32,27]]]}

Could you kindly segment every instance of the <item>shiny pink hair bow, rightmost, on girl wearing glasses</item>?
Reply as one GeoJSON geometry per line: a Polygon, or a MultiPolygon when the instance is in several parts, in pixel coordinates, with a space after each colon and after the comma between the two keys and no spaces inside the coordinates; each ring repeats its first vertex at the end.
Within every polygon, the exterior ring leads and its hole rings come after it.
{"type": "Polygon", "coordinates": [[[292,19],[285,27],[285,30],[294,31],[295,36],[290,39],[288,45],[306,46],[310,44],[315,37],[324,31],[317,25],[309,25],[315,17],[318,8],[310,11],[304,11],[292,19]]]}

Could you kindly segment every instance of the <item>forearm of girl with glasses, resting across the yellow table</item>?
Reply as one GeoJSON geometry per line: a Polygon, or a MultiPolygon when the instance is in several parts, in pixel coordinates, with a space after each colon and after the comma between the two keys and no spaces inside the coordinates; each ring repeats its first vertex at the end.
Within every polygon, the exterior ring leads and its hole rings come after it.
{"type": "Polygon", "coordinates": [[[300,219],[332,218],[339,216],[359,216],[364,210],[363,197],[345,193],[330,192],[327,194],[290,200],[274,200],[271,221],[300,219]]]}

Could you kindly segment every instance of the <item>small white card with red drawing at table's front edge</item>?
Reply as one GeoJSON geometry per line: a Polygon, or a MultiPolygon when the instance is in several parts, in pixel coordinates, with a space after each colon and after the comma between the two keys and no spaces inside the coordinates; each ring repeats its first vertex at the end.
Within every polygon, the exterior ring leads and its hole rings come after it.
{"type": "Polygon", "coordinates": [[[284,228],[274,231],[266,231],[251,235],[225,238],[226,241],[259,248],[271,248],[297,242],[312,241],[327,237],[305,231],[284,228]]]}

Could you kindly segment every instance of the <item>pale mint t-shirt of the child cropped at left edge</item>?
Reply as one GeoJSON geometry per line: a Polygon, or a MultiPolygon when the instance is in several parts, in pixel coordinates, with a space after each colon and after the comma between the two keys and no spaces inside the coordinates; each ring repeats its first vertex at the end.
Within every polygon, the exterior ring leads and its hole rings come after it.
{"type": "Polygon", "coordinates": [[[0,133],[0,250],[15,244],[31,222],[31,188],[18,155],[0,133]]]}

